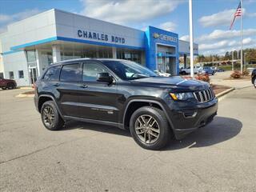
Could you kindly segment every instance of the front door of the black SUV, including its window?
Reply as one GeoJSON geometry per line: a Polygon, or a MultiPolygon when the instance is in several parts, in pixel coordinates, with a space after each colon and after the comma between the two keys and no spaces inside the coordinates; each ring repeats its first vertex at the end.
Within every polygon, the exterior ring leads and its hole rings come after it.
{"type": "Polygon", "coordinates": [[[98,82],[97,74],[109,72],[98,62],[82,64],[82,82],[79,86],[80,115],[82,118],[118,122],[117,86],[98,82]]]}

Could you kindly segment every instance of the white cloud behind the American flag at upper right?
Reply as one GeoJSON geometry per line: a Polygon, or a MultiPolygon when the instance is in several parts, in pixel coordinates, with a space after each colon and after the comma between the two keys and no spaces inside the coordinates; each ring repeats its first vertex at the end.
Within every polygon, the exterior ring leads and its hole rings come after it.
{"type": "MultiPolygon", "coordinates": [[[[198,22],[204,27],[208,26],[230,26],[234,18],[235,9],[222,10],[216,14],[210,14],[198,19],[198,22]]],[[[246,9],[242,9],[243,18],[256,17],[256,13],[247,13],[246,9]]]]}

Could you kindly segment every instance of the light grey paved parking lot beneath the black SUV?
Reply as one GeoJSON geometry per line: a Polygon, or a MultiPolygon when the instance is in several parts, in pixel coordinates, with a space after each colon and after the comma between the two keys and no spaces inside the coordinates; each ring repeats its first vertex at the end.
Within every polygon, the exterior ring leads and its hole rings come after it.
{"type": "Polygon", "coordinates": [[[0,191],[256,191],[256,90],[234,90],[218,116],[161,151],[130,133],[69,122],[42,126],[24,90],[0,90],[0,191]]]}

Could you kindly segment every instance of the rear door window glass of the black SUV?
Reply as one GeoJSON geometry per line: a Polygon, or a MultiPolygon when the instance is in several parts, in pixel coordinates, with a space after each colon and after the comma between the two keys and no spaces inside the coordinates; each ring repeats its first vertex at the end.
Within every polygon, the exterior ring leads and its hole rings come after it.
{"type": "Polygon", "coordinates": [[[78,82],[81,79],[79,75],[79,64],[69,64],[62,67],[60,80],[62,82],[78,82]]]}

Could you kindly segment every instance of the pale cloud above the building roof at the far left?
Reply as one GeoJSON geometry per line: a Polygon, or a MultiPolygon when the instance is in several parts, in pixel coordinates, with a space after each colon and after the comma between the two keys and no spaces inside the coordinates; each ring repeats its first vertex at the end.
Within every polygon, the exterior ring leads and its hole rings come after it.
{"type": "Polygon", "coordinates": [[[40,11],[38,9],[24,10],[16,14],[0,14],[0,33],[6,30],[6,26],[11,22],[17,22],[19,20],[29,18],[34,14],[38,14],[40,11]]]}

